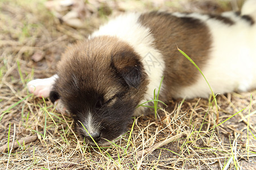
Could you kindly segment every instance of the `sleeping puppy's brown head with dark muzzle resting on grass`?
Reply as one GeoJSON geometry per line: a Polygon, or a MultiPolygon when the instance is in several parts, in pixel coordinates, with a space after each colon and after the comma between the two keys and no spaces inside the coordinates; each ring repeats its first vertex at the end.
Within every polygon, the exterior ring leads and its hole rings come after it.
{"type": "Polygon", "coordinates": [[[133,48],[107,36],[69,48],[58,65],[57,75],[50,99],[63,101],[77,131],[92,145],[92,138],[103,145],[105,139],[113,141],[125,133],[148,83],[133,48]]]}

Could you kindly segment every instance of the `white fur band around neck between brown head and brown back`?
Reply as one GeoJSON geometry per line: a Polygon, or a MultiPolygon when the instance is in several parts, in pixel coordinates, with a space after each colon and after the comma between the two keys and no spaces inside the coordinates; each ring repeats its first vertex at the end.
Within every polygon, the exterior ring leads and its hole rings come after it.
{"type": "MultiPolygon", "coordinates": [[[[165,65],[162,54],[159,50],[153,48],[154,37],[151,35],[150,29],[143,27],[138,22],[140,15],[138,13],[120,15],[100,27],[89,39],[103,35],[118,37],[122,41],[128,42],[134,48],[135,52],[142,57],[143,66],[150,79],[144,100],[141,101],[141,103],[144,103],[147,100],[153,99],[155,89],[157,94],[165,65]]],[[[145,108],[139,107],[135,111],[135,115],[141,114],[143,109],[145,108]]]]}

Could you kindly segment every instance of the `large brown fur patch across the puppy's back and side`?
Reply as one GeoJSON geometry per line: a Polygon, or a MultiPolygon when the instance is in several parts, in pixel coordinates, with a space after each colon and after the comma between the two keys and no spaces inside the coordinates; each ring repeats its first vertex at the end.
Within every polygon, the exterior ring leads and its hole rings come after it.
{"type": "Polygon", "coordinates": [[[142,14],[139,21],[151,29],[155,48],[162,52],[166,69],[162,100],[179,95],[182,87],[196,82],[199,71],[178,50],[183,50],[202,69],[210,49],[210,34],[206,25],[193,18],[177,18],[168,13],[142,14]]]}

